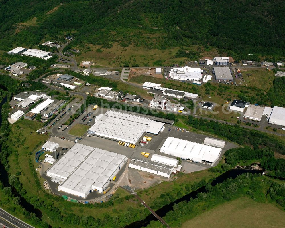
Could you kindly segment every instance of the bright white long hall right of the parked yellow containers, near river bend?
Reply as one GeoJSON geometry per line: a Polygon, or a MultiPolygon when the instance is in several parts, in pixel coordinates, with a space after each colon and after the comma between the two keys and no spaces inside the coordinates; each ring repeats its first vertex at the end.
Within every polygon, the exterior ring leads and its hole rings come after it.
{"type": "Polygon", "coordinates": [[[182,159],[192,160],[193,162],[202,162],[213,165],[219,160],[222,149],[168,137],[162,145],[160,152],[182,159]]]}

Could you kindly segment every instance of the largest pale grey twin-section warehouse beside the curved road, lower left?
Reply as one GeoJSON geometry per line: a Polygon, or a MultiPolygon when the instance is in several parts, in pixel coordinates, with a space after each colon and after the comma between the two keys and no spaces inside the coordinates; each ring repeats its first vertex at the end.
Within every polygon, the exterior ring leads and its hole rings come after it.
{"type": "Polygon", "coordinates": [[[126,162],[127,156],[76,143],[46,173],[59,191],[86,198],[92,190],[103,193],[126,162]]]}

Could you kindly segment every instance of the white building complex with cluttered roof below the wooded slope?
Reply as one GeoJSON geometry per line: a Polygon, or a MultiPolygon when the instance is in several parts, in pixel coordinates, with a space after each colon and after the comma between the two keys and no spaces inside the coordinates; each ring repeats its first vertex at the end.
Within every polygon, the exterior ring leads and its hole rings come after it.
{"type": "Polygon", "coordinates": [[[191,68],[189,66],[174,67],[170,69],[169,76],[174,80],[198,81],[202,79],[203,70],[201,68],[191,68]]]}

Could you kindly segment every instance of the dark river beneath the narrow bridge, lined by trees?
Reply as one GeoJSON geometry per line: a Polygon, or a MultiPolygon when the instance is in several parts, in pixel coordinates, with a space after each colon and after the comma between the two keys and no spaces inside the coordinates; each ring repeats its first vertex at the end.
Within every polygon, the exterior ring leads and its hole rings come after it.
{"type": "MultiPolygon", "coordinates": [[[[227,178],[236,178],[238,175],[241,175],[243,173],[262,173],[263,170],[230,170],[230,171],[227,171],[225,173],[223,173],[222,175],[218,176],[216,179],[214,179],[212,182],[211,182],[211,185],[214,186],[218,183],[222,183],[223,181],[225,181],[227,178]]],[[[196,198],[197,197],[197,194],[198,193],[201,193],[201,192],[206,192],[206,189],[205,189],[205,186],[197,189],[197,191],[192,191],[191,193],[187,194],[187,195],[184,195],[182,198],[180,199],[176,199],[174,202],[172,203],[169,203],[168,205],[165,205],[163,206],[162,208],[158,209],[157,211],[155,211],[160,217],[164,217],[166,215],[167,212],[171,211],[173,209],[173,205],[174,204],[177,204],[179,202],[182,202],[182,201],[189,201],[191,198],[196,198]]],[[[136,221],[136,222],[133,222],[131,223],[130,225],[127,225],[125,226],[124,228],[138,228],[138,227],[145,227],[147,226],[150,221],[152,220],[157,220],[157,218],[150,214],[148,215],[144,220],[141,220],[141,221],[136,221]]]]}

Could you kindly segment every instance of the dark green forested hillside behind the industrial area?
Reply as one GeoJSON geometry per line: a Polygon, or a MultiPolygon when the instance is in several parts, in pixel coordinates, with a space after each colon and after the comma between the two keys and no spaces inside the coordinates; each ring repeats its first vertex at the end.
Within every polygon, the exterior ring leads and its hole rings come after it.
{"type": "Polygon", "coordinates": [[[282,0],[0,0],[0,47],[33,47],[66,34],[75,37],[71,46],[83,51],[89,45],[146,50],[200,45],[234,58],[249,53],[281,58],[284,9],[282,0]]]}

